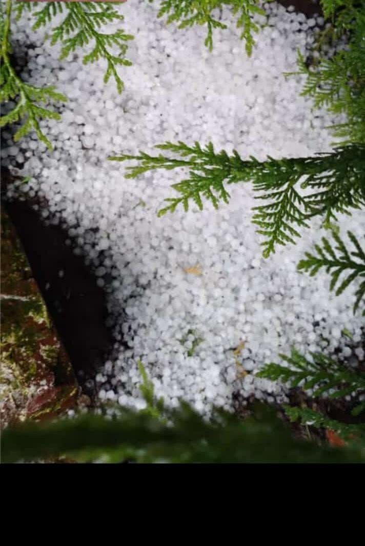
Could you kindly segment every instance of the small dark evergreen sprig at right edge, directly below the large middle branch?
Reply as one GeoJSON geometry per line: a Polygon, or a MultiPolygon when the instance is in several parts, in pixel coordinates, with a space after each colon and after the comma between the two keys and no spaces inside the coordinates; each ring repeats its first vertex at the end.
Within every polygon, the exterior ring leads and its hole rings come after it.
{"type": "Polygon", "coordinates": [[[347,235],[355,250],[349,251],[339,234],[333,230],[332,236],[337,245],[333,247],[328,239],[322,237],[322,246],[314,245],[317,256],[306,252],[306,258],[298,263],[298,270],[309,272],[313,277],[321,268],[325,268],[326,272],[331,275],[330,290],[336,288],[337,296],[342,294],[355,279],[363,278],[364,280],[361,281],[355,292],[355,313],[365,295],[365,252],[352,232],[348,231],[347,235]],[[339,283],[342,275],[343,280],[339,283]]]}

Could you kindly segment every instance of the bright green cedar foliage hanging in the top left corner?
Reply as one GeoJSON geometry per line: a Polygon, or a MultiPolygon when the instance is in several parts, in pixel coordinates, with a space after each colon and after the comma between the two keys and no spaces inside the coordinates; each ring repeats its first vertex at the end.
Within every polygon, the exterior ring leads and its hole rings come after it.
{"type": "Polygon", "coordinates": [[[11,58],[10,26],[13,9],[16,19],[25,13],[34,17],[33,30],[51,25],[54,17],[63,14],[64,18],[55,27],[51,28],[51,45],[58,41],[62,43],[61,59],[65,60],[77,48],[85,48],[92,44],[92,49],[83,55],[83,64],[93,63],[103,59],[106,62],[104,82],[113,78],[117,91],[123,90],[123,81],[118,73],[119,67],[130,66],[131,62],[125,58],[128,41],[133,39],[122,29],[112,33],[101,32],[101,28],[110,22],[123,21],[123,15],[110,2],[12,2],[1,4],[0,41],[1,41],[1,68],[0,68],[0,102],[7,103],[15,100],[14,108],[0,117],[0,127],[23,121],[17,129],[15,142],[31,130],[35,131],[39,140],[46,144],[49,150],[52,145],[41,131],[39,120],[52,118],[59,120],[61,115],[57,111],[40,106],[39,103],[64,102],[63,94],[58,93],[53,86],[35,87],[22,81],[17,74],[11,58]],[[41,4],[41,5],[40,5],[41,4]],[[117,53],[115,52],[117,51],[117,53]]]}

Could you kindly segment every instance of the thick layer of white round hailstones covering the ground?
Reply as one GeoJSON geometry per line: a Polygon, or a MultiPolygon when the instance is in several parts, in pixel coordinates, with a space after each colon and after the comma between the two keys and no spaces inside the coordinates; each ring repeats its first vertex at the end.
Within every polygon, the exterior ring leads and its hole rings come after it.
{"type": "MultiPolygon", "coordinates": [[[[128,344],[97,375],[99,396],[143,407],[141,360],[169,406],[184,399],[207,414],[212,404],[231,410],[234,394],[283,400],[282,387],[255,377],[264,363],[279,362],[292,346],[304,354],[342,347],[348,357],[344,329],[360,341],[351,288],[332,296],[325,272],[310,278],[296,271],[322,235],[320,224],[263,259],[249,185],[230,187],[230,203],[218,211],[207,205],[158,218],[181,175],[154,171],[128,180],[123,164],[107,156],[155,153],[153,146],[167,140],[212,141],[243,158],[330,151],[331,118],[300,97],[300,78],[283,76],[296,69],[297,49],[310,46],[321,21],[270,4],[248,58],[229,10],[222,14],[229,30],[214,32],[210,53],[204,28],[166,26],[154,4],[117,9],[135,35],[121,95],[112,80],[103,83],[102,61],[85,67],[77,53],[58,61],[57,46],[41,45],[26,19],[17,23],[15,44],[35,45],[25,78],[55,85],[68,103],[61,122],[42,123],[53,152],[33,135],[17,145],[9,139],[2,152],[4,164],[23,164],[21,172],[32,177],[22,189],[48,203],[41,215],[67,224],[69,243],[108,294],[116,339],[128,344]]],[[[364,218],[340,218],[340,225],[360,235],[364,218]]]]}

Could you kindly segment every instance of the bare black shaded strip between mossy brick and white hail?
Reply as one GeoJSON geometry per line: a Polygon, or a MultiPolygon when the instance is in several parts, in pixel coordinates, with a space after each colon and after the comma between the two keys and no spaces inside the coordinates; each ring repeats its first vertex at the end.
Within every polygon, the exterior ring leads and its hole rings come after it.
{"type": "MultiPolygon", "coordinates": [[[[2,172],[2,189],[11,177],[2,172]]],[[[83,259],[65,244],[67,234],[59,225],[45,225],[28,200],[3,200],[25,250],[32,276],[37,281],[52,322],[64,345],[85,393],[92,395],[87,381],[103,364],[112,348],[112,335],[105,322],[105,294],[83,259]]],[[[56,384],[62,384],[62,369],[56,384]]]]}

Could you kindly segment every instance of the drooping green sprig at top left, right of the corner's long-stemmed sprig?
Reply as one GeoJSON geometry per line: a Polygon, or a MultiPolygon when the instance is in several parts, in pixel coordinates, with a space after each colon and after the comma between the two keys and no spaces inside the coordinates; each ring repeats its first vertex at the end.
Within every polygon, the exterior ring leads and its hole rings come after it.
{"type": "Polygon", "coordinates": [[[112,76],[118,93],[121,93],[124,84],[117,68],[131,65],[125,54],[128,41],[133,39],[133,35],[126,34],[122,29],[106,34],[100,32],[100,28],[110,22],[123,21],[123,15],[109,2],[48,2],[40,10],[32,12],[35,17],[33,29],[37,30],[50,23],[57,13],[66,14],[63,21],[51,31],[51,44],[58,41],[62,43],[60,58],[65,59],[77,48],[92,43],[93,49],[83,56],[83,64],[104,59],[107,63],[104,82],[107,83],[112,76]],[[118,54],[112,52],[113,47],[118,49],[118,54]]]}

